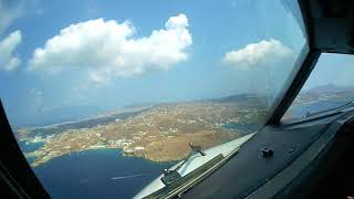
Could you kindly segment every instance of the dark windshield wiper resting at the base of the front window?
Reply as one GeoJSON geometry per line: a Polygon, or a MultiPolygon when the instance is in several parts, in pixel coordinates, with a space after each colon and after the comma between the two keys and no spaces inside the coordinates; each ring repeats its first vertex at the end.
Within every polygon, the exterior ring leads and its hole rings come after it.
{"type": "Polygon", "coordinates": [[[175,169],[165,169],[164,177],[162,177],[162,181],[168,186],[175,182],[177,179],[181,178],[178,170],[184,166],[195,154],[200,154],[201,156],[206,156],[207,154],[201,149],[200,146],[194,145],[189,143],[189,147],[191,150],[189,151],[188,156],[184,158],[183,163],[178,165],[175,169]]]}

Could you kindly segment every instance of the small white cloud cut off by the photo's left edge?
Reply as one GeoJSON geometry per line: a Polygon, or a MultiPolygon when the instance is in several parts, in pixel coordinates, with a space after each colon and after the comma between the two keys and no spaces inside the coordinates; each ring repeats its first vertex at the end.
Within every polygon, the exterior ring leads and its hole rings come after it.
{"type": "Polygon", "coordinates": [[[0,41],[0,71],[12,71],[21,63],[13,51],[21,43],[21,31],[14,31],[0,41]]]}

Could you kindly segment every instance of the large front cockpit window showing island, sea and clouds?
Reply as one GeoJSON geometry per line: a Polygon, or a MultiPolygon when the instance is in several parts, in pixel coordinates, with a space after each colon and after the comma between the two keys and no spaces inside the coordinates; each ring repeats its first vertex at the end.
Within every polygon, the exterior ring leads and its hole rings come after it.
{"type": "Polygon", "coordinates": [[[1,102],[53,198],[131,198],[257,132],[309,51],[295,0],[0,3],[1,102]]]}

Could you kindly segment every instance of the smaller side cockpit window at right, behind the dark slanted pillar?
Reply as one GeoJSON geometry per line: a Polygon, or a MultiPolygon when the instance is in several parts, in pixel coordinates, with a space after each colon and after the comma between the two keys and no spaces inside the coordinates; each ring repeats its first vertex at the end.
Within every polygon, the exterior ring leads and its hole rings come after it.
{"type": "Polygon", "coordinates": [[[354,100],[354,56],[322,53],[283,119],[305,118],[354,100]]]}

